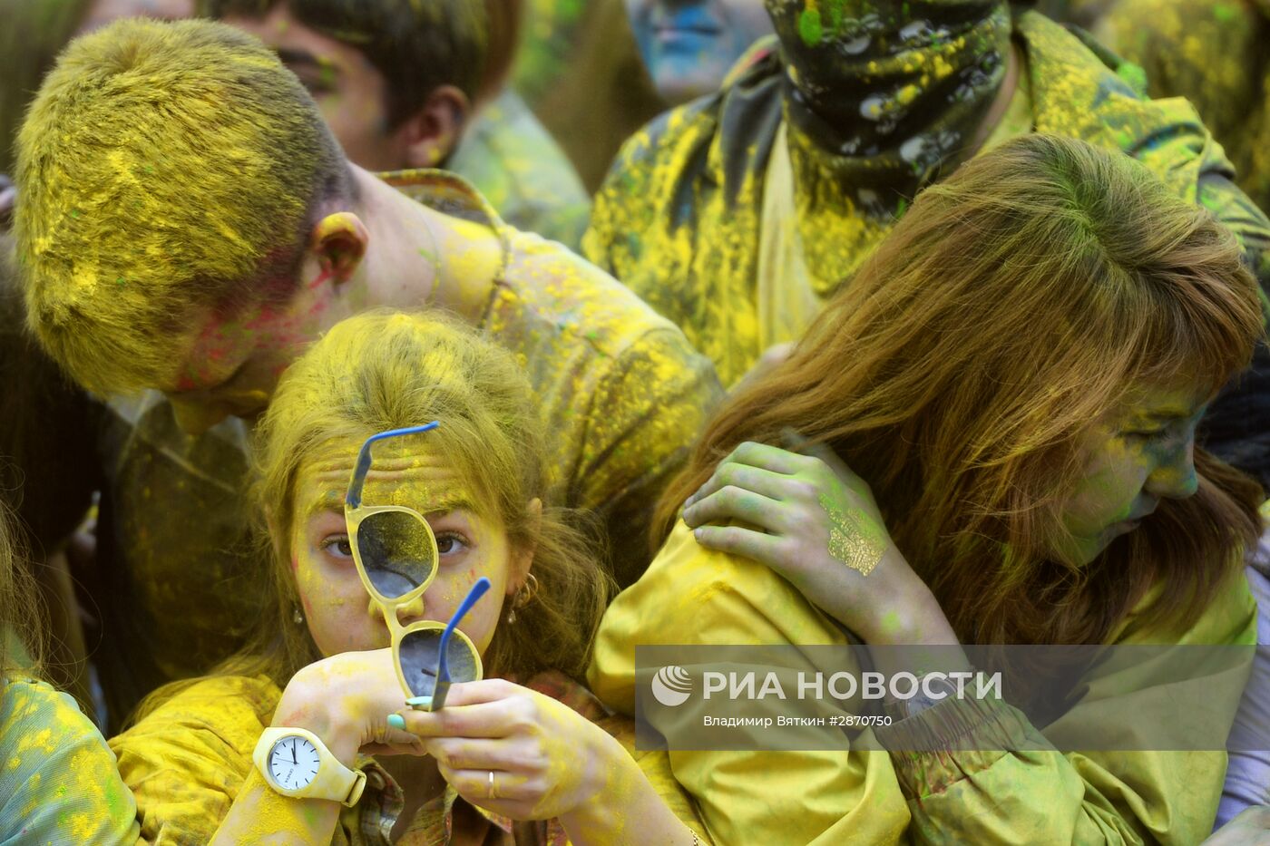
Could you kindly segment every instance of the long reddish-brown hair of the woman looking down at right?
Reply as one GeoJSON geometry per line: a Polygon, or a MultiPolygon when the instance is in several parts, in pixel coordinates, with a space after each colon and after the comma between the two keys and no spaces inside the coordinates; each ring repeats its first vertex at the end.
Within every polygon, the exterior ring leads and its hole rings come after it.
{"type": "Polygon", "coordinates": [[[1196,451],[1088,567],[1053,560],[1078,445],[1133,387],[1215,393],[1261,334],[1234,238],[1140,165],[1033,135],[926,188],[792,356],[733,395],[660,509],[743,441],[792,427],[872,488],[899,549],[970,643],[1101,643],[1185,629],[1260,532],[1256,483],[1196,451]]]}

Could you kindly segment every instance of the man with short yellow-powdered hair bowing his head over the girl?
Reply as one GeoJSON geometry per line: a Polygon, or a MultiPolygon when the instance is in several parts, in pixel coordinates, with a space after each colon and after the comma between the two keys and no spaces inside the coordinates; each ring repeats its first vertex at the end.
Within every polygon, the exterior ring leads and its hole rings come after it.
{"type": "Polygon", "coordinates": [[[131,20],[75,42],[17,175],[29,321],[113,398],[98,597],[112,720],[241,644],[264,578],[241,507],[251,420],[354,312],[446,309],[512,349],[547,423],[552,500],[598,513],[618,583],[652,558],[653,502],[719,395],[710,363],[466,183],[419,174],[420,203],[348,163],[255,38],[131,20]],[[121,399],[141,389],[157,390],[121,399]]]}

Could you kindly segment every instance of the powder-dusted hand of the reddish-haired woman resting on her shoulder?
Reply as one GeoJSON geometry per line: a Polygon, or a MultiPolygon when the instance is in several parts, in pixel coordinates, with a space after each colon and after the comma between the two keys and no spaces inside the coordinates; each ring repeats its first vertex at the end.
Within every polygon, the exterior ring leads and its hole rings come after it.
{"type": "Polygon", "coordinates": [[[832,450],[808,451],[733,450],[683,509],[697,542],[766,564],[866,643],[944,641],[951,629],[869,485],[832,450]]]}

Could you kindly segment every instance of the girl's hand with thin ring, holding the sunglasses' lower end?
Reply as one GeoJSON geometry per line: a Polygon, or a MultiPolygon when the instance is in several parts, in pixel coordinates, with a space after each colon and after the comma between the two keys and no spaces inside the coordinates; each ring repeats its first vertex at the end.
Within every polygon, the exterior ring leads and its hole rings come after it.
{"type": "Polygon", "coordinates": [[[455,685],[439,711],[399,713],[464,799],[512,819],[566,818],[643,777],[598,725],[502,678],[455,685]]]}

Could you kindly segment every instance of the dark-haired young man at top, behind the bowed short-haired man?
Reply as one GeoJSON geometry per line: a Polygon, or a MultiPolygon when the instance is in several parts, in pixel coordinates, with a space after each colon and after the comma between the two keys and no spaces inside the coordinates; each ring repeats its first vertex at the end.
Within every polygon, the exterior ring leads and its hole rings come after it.
{"type": "Polygon", "coordinates": [[[518,1],[202,5],[278,52],[362,168],[444,168],[470,180],[513,226],[578,249],[591,198],[564,151],[504,86],[518,1]]]}

